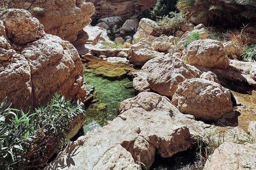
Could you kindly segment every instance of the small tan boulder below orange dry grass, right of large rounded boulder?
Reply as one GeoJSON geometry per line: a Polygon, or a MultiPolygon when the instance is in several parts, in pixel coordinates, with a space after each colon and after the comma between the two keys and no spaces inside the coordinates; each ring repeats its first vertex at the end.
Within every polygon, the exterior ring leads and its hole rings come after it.
{"type": "Polygon", "coordinates": [[[223,46],[228,56],[237,55],[239,57],[244,53],[243,49],[237,44],[235,44],[235,42],[232,42],[232,41],[224,42],[223,46]]]}

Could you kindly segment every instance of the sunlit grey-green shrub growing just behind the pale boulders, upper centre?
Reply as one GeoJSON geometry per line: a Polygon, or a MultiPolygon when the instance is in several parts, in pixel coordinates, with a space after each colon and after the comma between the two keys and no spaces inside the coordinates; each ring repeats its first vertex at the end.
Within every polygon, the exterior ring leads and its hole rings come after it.
{"type": "Polygon", "coordinates": [[[181,26],[186,22],[185,15],[180,13],[170,12],[170,16],[166,16],[157,22],[155,26],[155,36],[160,35],[174,35],[174,33],[180,30],[181,26]]]}

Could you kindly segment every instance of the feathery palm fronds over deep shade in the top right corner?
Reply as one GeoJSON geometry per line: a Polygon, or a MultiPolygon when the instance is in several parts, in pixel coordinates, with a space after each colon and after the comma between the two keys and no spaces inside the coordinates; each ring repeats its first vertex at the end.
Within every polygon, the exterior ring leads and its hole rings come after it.
{"type": "Polygon", "coordinates": [[[256,18],[256,0],[178,0],[177,8],[189,18],[205,18],[209,25],[223,21],[239,28],[256,18]]]}

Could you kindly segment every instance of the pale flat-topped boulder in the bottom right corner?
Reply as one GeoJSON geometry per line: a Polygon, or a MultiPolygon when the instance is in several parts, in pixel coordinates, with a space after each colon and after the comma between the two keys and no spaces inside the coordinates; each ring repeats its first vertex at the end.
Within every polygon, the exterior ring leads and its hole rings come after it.
{"type": "Polygon", "coordinates": [[[256,144],[224,142],[207,159],[203,170],[256,169],[256,144]]]}

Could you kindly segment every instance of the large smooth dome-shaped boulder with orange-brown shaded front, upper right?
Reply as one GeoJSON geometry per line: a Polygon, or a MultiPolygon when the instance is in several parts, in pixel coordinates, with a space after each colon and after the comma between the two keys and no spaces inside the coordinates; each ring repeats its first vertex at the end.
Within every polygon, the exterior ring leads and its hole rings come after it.
{"type": "Polygon", "coordinates": [[[211,39],[197,40],[190,43],[183,51],[186,62],[190,65],[202,65],[209,68],[226,69],[229,59],[221,42],[211,39]]]}

